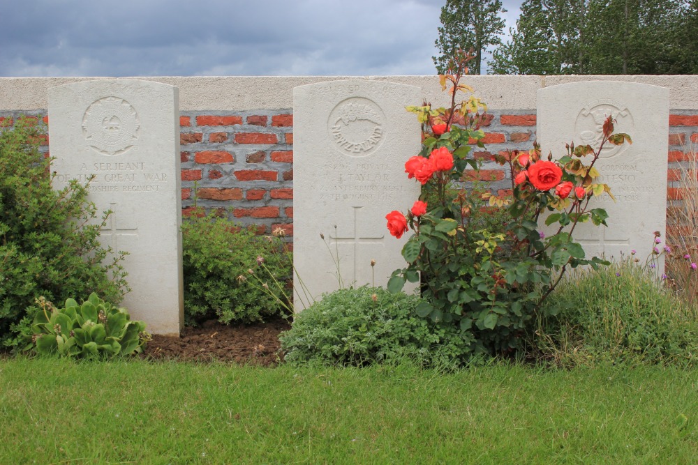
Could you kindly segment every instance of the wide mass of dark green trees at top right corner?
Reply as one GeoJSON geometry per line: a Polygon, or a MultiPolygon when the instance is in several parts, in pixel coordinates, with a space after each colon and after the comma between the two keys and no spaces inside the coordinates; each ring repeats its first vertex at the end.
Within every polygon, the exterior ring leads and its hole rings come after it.
{"type": "Polygon", "coordinates": [[[524,0],[496,74],[698,73],[697,0],[524,0]]]}

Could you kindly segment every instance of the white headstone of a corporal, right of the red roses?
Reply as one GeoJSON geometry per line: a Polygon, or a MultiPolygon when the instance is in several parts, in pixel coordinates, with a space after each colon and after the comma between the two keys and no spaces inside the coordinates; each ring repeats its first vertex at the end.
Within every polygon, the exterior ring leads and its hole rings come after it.
{"type": "MultiPolygon", "coordinates": [[[[644,261],[652,253],[653,233],[662,244],[667,211],[667,151],[669,89],[633,82],[575,82],[540,89],[537,95],[537,139],[542,155],[565,155],[565,144],[597,148],[602,124],[613,116],[615,132],[630,135],[632,144],[604,145],[594,167],[597,182],[608,184],[616,197],[592,199],[592,208],[604,208],[608,227],[577,224],[574,238],[588,257],[630,256],[644,261]]],[[[591,160],[585,159],[585,165],[591,160]]],[[[660,245],[661,250],[661,245],[660,245]]],[[[663,261],[662,261],[663,268],[663,261]]]]}

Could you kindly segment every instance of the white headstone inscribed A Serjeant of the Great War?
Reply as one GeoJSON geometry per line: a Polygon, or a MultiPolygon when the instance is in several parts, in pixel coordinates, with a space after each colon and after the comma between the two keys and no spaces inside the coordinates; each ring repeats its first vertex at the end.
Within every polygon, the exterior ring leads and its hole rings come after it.
{"type": "Polygon", "coordinates": [[[128,252],[122,263],[132,290],[120,305],[151,333],[179,334],[177,88],[132,79],[66,84],[49,89],[48,114],[54,188],[94,174],[89,200],[99,211],[114,212],[100,236],[103,246],[128,252]]]}

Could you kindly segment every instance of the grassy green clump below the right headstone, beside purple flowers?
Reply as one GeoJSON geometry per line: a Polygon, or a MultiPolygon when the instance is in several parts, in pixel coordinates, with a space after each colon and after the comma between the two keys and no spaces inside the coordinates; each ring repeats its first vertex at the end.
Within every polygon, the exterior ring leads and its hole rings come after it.
{"type": "Polygon", "coordinates": [[[584,270],[551,295],[537,328],[544,357],[563,365],[642,361],[694,364],[698,310],[658,284],[632,258],[584,270]]]}

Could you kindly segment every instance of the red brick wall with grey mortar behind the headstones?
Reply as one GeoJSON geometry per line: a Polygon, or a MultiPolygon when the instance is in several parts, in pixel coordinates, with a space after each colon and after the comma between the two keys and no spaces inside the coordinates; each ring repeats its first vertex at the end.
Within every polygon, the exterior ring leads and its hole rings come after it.
{"type": "MultiPolygon", "coordinates": [[[[1,112],[0,121],[28,114],[47,122],[46,112],[1,112]]],[[[260,234],[282,226],[292,234],[293,117],[290,109],[260,112],[182,112],[181,198],[184,215],[197,203],[230,210],[243,224],[258,224],[260,234]]],[[[474,147],[482,160],[480,179],[493,181],[493,190],[511,188],[508,174],[493,162],[507,148],[528,150],[535,140],[535,110],[495,111],[483,126],[487,147],[474,147]]],[[[632,136],[632,135],[631,135],[632,136]]],[[[48,150],[48,138],[42,142],[48,150]]],[[[672,111],[667,154],[671,201],[680,199],[678,168],[698,147],[698,112],[672,111]]],[[[406,153],[406,159],[414,155],[406,153]]]]}

